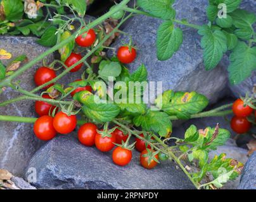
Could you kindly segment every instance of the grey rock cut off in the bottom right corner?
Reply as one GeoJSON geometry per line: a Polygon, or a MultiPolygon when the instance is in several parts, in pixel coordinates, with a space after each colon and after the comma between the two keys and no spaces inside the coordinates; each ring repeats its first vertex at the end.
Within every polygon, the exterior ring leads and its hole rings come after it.
{"type": "Polygon", "coordinates": [[[239,189],[256,189],[256,151],[248,159],[241,175],[239,189]]]}

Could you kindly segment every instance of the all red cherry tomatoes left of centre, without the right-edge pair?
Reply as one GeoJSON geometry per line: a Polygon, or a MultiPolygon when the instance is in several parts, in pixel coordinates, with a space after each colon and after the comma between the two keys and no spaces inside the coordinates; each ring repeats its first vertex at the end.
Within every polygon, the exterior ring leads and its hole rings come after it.
{"type": "MultiPolygon", "coordinates": [[[[96,33],[94,30],[90,29],[88,32],[79,35],[75,42],[80,47],[91,47],[96,41],[96,33]]],[[[117,58],[120,62],[124,64],[128,64],[134,61],[136,58],[136,49],[131,47],[130,45],[122,46],[117,51],[117,58]]],[[[80,54],[76,54],[72,52],[70,56],[65,61],[65,66],[68,68],[73,66],[75,63],[79,62],[82,59],[80,54]]],[[[82,63],[75,66],[70,72],[79,71],[82,68],[82,63]]],[[[37,86],[44,85],[48,81],[56,78],[56,72],[52,68],[41,67],[37,69],[34,81],[37,86]]],[[[76,80],[80,81],[80,80],[76,80]]],[[[44,89],[48,89],[51,85],[45,86],[44,89]]],[[[75,93],[82,92],[87,90],[89,92],[93,92],[91,86],[84,86],[75,88],[70,95],[74,97],[75,93]]],[[[48,94],[42,95],[42,98],[51,99],[48,94]]],[[[58,112],[58,107],[48,104],[47,102],[37,101],[35,102],[35,112],[38,114],[39,118],[35,121],[34,124],[34,133],[37,138],[44,141],[52,140],[57,133],[60,134],[68,134],[74,131],[77,126],[77,117],[72,114],[68,114],[66,112],[58,112]],[[57,112],[56,115],[54,115],[57,112]],[[51,114],[52,116],[49,116],[51,114]]],[[[96,146],[99,151],[106,152],[111,151],[115,145],[117,147],[113,150],[112,159],[113,162],[117,165],[124,166],[127,165],[132,160],[132,147],[125,146],[125,142],[127,141],[129,135],[125,135],[123,131],[118,128],[112,130],[112,133],[103,133],[103,130],[99,131],[97,126],[91,122],[88,122],[82,126],[80,126],[78,131],[78,139],[82,145],[85,146],[96,146]],[[103,135],[107,134],[107,135],[103,135]]],[[[140,135],[142,138],[144,134],[140,135]]],[[[150,138],[151,139],[151,138],[150,138]]],[[[128,140],[129,141],[129,140],[128,140]]],[[[153,158],[151,159],[148,153],[153,153],[153,149],[150,146],[146,146],[145,141],[140,138],[136,138],[135,148],[139,152],[140,162],[143,167],[146,169],[152,169],[158,163],[158,159],[166,160],[166,155],[160,155],[158,153],[153,154],[153,158]]]]}

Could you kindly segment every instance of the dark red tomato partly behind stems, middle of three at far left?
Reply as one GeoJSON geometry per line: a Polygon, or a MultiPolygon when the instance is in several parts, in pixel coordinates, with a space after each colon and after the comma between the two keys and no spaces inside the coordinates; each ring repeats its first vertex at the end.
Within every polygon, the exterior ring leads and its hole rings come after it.
{"type": "MultiPolygon", "coordinates": [[[[51,99],[51,97],[49,97],[49,95],[42,95],[43,98],[46,99],[51,99]]],[[[47,102],[43,102],[43,101],[36,101],[35,102],[35,113],[38,114],[38,116],[47,116],[49,115],[49,111],[51,110],[50,114],[53,113],[53,110],[56,109],[55,111],[58,111],[58,107],[53,106],[47,102]]]]}

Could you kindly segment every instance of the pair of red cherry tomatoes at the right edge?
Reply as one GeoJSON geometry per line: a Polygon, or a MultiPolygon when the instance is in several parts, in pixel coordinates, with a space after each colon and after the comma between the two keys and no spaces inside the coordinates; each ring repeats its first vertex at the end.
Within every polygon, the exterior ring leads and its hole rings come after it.
{"type": "Polygon", "coordinates": [[[248,117],[253,113],[252,107],[245,105],[239,98],[234,102],[232,109],[234,117],[231,119],[231,128],[238,134],[247,133],[252,127],[252,123],[248,121],[248,117]]]}

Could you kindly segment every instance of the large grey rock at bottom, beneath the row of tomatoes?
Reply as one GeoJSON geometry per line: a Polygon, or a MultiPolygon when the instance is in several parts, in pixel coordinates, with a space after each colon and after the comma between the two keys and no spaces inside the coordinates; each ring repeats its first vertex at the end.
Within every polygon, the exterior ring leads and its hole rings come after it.
{"type": "MultiPolygon", "coordinates": [[[[74,134],[75,136],[75,134],[74,134]]],[[[35,153],[27,169],[37,170],[42,189],[193,189],[193,185],[174,163],[165,162],[153,170],[139,165],[133,151],[126,167],[113,164],[111,152],[80,145],[74,136],[58,136],[35,153]]],[[[26,176],[29,175],[25,173],[26,176]]]]}

